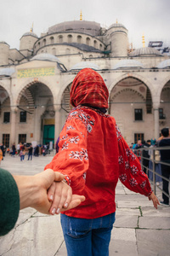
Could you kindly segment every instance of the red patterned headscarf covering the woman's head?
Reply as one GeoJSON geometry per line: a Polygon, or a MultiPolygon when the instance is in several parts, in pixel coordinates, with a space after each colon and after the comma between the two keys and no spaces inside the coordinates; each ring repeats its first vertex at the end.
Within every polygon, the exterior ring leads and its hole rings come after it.
{"type": "Polygon", "coordinates": [[[71,105],[77,107],[88,104],[98,108],[108,108],[109,91],[104,79],[91,68],[77,73],[71,86],[71,105]]]}

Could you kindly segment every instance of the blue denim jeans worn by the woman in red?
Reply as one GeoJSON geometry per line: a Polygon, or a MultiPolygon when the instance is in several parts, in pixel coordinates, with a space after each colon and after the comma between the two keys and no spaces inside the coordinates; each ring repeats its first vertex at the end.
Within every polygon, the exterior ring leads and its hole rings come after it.
{"type": "Polygon", "coordinates": [[[108,256],[115,212],[101,218],[60,214],[68,256],[108,256]]]}

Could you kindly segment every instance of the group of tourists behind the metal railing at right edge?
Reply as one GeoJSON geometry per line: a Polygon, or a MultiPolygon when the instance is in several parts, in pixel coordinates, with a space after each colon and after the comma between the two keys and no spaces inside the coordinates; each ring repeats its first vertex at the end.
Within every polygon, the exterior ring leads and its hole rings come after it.
{"type": "MultiPolygon", "coordinates": [[[[134,154],[138,156],[141,162],[144,173],[147,173],[151,179],[153,173],[150,172],[150,169],[152,169],[153,160],[155,160],[156,173],[162,176],[161,178],[156,175],[156,181],[162,181],[162,189],[169,195],[169,182],[167,180],[170,178],[170,148],[161,149],[161,147],[170,147],[170,130],[168,128],[161,129],[161,137],[157,140],[151,139],[147,142],[139,140],[138,143],[131,145],[134,154]]],[[[161,203],[169,205],[169,197],[165,193],[162,193],[163,201],[161,203]]]]}

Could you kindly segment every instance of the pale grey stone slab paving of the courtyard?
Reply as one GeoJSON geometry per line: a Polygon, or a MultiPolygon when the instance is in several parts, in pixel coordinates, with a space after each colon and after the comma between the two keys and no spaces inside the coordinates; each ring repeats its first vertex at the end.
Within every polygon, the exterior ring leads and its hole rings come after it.
{"type": "MultiPolygon", "coordinates": [[[[19,157],[7,155],[1,167],[13,174],[33,175],[42,172],[52,157],[20,162],[19,157]]],[[[161,200],[159,191],[157,196],[161,200]]],[[[170,207],[160,206],[156,210],[148,198],[133,193],[120,182],[116,186],[116,207],[110,256],[170,255],[170,207]]],[[[0,255],[66,256],[59,215],[44,215],[32,208],[20,211],[14,230],[0,237],[0,255]]]]}

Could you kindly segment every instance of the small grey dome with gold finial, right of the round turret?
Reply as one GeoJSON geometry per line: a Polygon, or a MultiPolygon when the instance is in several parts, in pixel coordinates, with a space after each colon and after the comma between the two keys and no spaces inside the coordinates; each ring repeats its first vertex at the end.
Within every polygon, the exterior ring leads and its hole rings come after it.
{"type": "Polygon", "coordinates": [[[152,47],[142,47],[139,49],[133,50],[129,56],[134,57],[134,56],[139,56],[139,55],[159,55],[162,56],[161,52],[157,49],[154,49],[152,47]]]}

